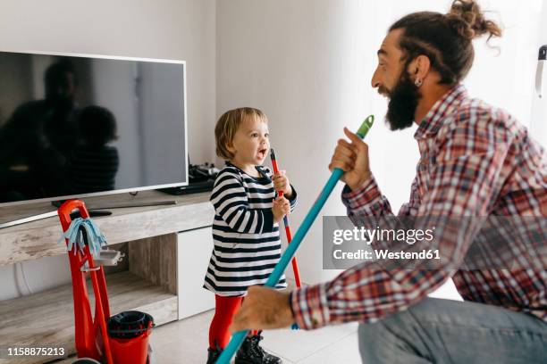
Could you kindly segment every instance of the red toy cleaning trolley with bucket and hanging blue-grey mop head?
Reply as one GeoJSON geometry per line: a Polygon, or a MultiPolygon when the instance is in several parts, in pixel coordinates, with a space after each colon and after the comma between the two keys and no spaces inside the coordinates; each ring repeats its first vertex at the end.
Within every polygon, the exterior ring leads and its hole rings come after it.
{"type": "Polygon", "coordinates": [[[71,265],[75,345],[80,358],[75,362],[150,363],[148,338],[154,327],[152,316],[124,311],[110,317],[103,265],[115,265],[122,254],[101,248],[106,244],[105,236],[89,219],[86,206],[80,200],[63,203],[57,212],[63,227],[61,240],[67,244],[71,265]],[[95,297],[93,316],[86,285],[88,276],[95,297]]]}

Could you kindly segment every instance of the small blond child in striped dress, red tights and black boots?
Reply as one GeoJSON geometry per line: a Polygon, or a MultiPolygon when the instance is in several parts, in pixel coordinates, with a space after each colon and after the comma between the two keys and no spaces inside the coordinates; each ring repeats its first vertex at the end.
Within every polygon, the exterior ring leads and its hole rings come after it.
{"type": "MultiPolygon", "coordinates": [[[[215,179],[214,249],[204,287],[215,293],[215,317],[209,328],[207,363],[215,363],[230,341],[229,327],[247,289],[264,285],[281,258],[279,222],[296,204],[296,191],[283,173],[263,166],[270,149],[263,112],[240,108],[225,112],[215,126],[216,153],[226,166],[215,179]],[[283,196],[275,198],[276,190],[283,196]]],[[[275,282],[287,287],[284,277],[275,282]]],[[[235,362],[281,363],[265,352],[260,333],[243,337],[235,362]]]]}

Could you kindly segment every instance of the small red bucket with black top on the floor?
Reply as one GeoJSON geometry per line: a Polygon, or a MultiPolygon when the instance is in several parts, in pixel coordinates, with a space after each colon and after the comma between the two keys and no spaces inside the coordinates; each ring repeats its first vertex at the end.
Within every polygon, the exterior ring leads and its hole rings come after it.
{"type": "Polygon", "coordinates": [[[108,320],[112,359],[116,364],[146,364],[154,319],[145,312],[124,311],[108,320]]]}

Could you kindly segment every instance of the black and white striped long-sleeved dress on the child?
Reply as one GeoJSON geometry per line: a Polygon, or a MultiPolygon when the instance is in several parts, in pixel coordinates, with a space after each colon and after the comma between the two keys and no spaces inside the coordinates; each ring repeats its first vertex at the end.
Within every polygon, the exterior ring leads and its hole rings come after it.
{"type": "MultiPolygon", "coordinates": [[[[273,222],[276,197],[272,172],[257,166],[254,178],[231,163],[215,179],[211,203],[215,207],[215,246],[204,287],[224,296],[244,295],[250,285],[264,285],[281,258],[279,224],[273,222]]],[[[290,210],[296,205],[296,191],[290,210]]],[[[276,288],[286,288],[283,276],[276,288]]]]}

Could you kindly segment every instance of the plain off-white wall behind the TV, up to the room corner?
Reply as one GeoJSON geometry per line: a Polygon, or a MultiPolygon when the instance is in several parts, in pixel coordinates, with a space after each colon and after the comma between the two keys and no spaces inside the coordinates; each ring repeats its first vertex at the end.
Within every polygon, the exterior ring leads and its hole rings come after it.
{"type": "MultiPolygon", "coordinates": [[[[0,48],[185,60],[189,156],[212,161],[215,16],[215,0],[3,1],[0,48]]],[[[70,280],[64,256],[24,265],[33,291],[70,280]]],[[[27,293],[13,283],[14,269],[0,267],[0,300],[27,293]]]]}

